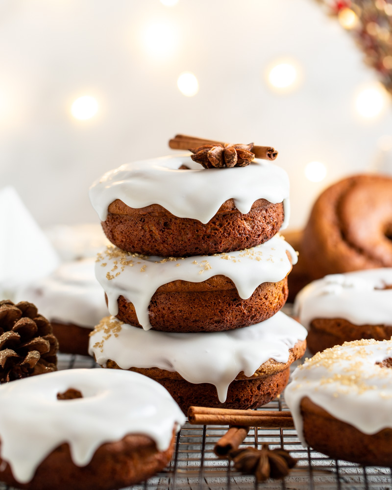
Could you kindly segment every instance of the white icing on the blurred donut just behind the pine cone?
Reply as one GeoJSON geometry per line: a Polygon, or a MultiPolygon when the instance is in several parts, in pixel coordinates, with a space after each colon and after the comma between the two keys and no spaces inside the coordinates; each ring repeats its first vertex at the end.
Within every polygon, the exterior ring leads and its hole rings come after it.
{"type": "Polygon", "coordinates": [[[19,289],[16,301],[34,303],[50,321],[93,328],[107,315],[94,267],[95,258],[63,264],[50,276],[19,289]]]}

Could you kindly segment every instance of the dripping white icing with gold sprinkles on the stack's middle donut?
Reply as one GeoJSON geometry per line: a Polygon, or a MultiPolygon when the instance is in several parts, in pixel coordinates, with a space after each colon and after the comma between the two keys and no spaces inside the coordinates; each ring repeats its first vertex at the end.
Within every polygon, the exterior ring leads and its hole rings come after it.
{"type": "Polygon", "coordinates": [[[148,305],[152,295],[162,285],[175,280],[202,282],[222,274],[235,284],[238,294],[249,298],[264,282],[278,282],[291,269],[296,253],[283,237],[275,235],[268,242],[247,250],[208,256],[162,259],[124,252],[110,246],[98,254],[96,276],[108,297],[109,312],[118,314],[119,296],[133,303],[139,323],[151,328],[148,305]]]}

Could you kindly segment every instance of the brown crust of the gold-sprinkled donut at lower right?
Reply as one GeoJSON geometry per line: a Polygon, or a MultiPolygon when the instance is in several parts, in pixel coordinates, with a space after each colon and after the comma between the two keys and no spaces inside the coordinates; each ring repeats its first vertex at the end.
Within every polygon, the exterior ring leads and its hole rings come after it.
{"type": "Polygon", "coordinates": [[[392,429],[364,434],[312,402],[301,401],[303,434],[307,443],[331,458],[362,465],[392,466],[392,429]]]}

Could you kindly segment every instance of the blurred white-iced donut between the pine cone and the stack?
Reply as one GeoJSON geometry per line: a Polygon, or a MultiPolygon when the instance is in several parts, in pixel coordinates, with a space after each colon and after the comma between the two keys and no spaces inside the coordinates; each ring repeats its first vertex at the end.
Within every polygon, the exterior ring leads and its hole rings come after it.
{"type": "Polygon", "coordinates": [[[68,262],[16,292],[49,319],[62,352],[86,356],[91,330],[107,315],[94,267],[95,258],[68,262]]]}

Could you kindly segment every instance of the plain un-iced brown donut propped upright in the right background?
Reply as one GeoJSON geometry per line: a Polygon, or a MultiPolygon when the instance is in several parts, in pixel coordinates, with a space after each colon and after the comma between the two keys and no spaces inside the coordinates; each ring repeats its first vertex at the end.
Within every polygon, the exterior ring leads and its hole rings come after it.
{"type": "Polygon", "coordinates": [[[392,267],[392,178],[354,175],[326,189],[304,230],[302,254],[313,279],[392,267]]]}

